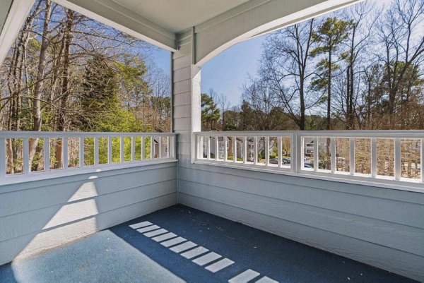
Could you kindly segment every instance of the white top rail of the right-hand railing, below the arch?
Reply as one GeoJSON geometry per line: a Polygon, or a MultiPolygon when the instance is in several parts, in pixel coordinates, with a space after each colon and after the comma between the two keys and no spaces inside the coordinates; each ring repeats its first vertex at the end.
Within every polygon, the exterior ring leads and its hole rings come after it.
{"type": "Polygon", "coordinates": [[[342,131],[207,131],[197,136],[322,136],[357,138],[424,138],[424,130],[342,130],[342,131]]]}

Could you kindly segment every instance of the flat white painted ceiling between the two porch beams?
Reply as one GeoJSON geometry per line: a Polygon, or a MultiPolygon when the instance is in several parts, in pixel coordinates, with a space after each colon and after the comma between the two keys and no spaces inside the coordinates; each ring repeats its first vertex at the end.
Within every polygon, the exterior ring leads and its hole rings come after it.
{"type": "Polygon", "coordinates": [[[171,32],[187,30],[249,0],[113,0],[171,32]],[[163,15],[167,15],[164,17],[163,15]]]}

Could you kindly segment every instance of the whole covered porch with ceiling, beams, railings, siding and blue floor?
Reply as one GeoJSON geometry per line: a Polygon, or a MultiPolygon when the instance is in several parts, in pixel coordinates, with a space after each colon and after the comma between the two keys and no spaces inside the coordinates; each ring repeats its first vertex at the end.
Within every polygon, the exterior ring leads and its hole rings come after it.
{"type": "MultiPolygon", "coordinates": [[[[171,133],[0,132],[1,282],[424,280],[424,131],[201,132],[202,64],[360,1],[56,2],[172,52],[171,133]],[[16,174],[12,139],[22,143],[16,174]],[[364,139],[369,174],[355,168],[364,139]],[[377,159],[384,139],[390,161],[377,159]],[[59,140],[58,168],[32,171],[33,140],[44,164],[59,140]],[[405,140],[418,156],[407,173],[405,140]],[[271,149],[276,159],[257,157],[271,149]]],[[[0,3],[0,61],[32,5],[0,3]]]]}

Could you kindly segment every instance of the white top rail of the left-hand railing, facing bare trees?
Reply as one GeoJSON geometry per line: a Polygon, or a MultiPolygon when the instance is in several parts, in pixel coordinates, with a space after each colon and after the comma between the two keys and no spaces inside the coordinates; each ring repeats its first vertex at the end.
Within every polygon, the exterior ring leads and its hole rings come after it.
{"type": "Polygon", "coordinates": [[[47,131],[0,131],[0,138],[79,138],[79,137],[143,137],[177,136],[177,133],[129,133],[129,132],[47,132],[47,131]]]}

